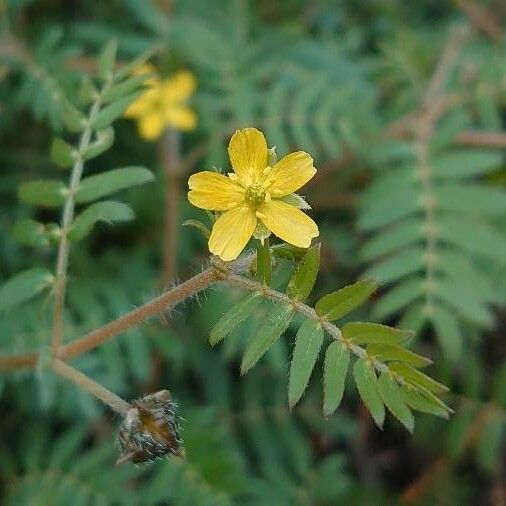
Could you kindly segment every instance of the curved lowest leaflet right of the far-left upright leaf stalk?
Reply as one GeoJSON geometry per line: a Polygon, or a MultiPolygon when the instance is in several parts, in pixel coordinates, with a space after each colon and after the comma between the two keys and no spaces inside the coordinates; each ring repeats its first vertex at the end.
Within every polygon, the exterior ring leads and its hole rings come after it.
{"type": "Polygon", "coordinates": [[[116,221],[130,221],[134,219],[132,209],[122,202],[106,200],[97,202],[79,214],[70,228],[68,237],[71,241],[79,241],[91,231],[93,226],[103,221],[113,223],[116,221]]]}

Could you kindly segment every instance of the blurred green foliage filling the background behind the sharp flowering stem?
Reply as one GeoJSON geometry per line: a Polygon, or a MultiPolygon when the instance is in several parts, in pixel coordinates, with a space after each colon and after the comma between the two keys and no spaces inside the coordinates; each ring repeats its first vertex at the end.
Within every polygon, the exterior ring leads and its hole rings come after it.
{"type": "MultiPolygon", "coordinates": [[[[241,377],[262,316],[211,348],[210,329],[242,294],[213,288],[75,360],[126,399],[169,388],[187,458],[115,467],[118,417],[43,365],[2,373],[2,501],[504,504],[505,17],[499,0],[0,2],[2,281],[54,265],[54,248],[27,247],[13,225],[60,220],[20,202],[18,187],[55,177],[63,97],[82,102],[111,38],[123,63],[156,46],[162,75],[196,75],[198,127],[148,143],[120,119],[114,146],[87,164],[142,165],[156,182],[122,194],[135,221],[99,224],[73,248],[67,338],[201,270],[205,240],[181,226],[203,215],[187,178],[227,167],[230,134],[256,126],[279,154],[303,149],[319,169],[305,188],[322,242],[312,297],[378,279],[359,317],[414,329],[411,348],[432,358],[455,410],[417,416],[413,436],[393,418],[381,431],[349,388],[324,418],[318,374],[290,411],[296,328],[241,377]]],[[[2,314],[2,355],[44,350],[51,304],[2,314]]]]}

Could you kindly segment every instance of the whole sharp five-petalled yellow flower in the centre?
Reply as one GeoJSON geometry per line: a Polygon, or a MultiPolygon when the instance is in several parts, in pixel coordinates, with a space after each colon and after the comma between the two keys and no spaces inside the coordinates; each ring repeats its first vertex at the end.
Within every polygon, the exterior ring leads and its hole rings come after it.
{"type": "Polygon", "coordinates": [[[255,232],[257,222],[282,240],[308,248],[318,226],[282,198],[305,185],[315,174],[313,159],[303,151],[268,166],[267,143],[256,128],[237,130],[228,146],[233,173],[204,171],[188,181],[188,200],[201,209],[223,211],[216,220],[209,250],[222,260],[234,260],[255,232]]]}

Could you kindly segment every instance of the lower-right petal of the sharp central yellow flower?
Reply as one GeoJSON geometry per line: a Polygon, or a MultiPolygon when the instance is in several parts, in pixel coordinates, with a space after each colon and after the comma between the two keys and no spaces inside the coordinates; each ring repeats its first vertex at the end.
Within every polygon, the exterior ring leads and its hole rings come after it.
{"type": "Polygon", "coordinates": [[[263,204],[257,216],[280,239],[299,248],[309,248],[311,239],[319,234],[318,226],[309,216],[279,200],[263,204]]]}

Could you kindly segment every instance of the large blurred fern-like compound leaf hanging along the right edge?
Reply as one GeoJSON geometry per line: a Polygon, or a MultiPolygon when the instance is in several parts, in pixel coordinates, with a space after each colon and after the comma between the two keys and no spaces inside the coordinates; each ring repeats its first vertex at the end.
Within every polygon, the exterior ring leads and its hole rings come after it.
{"type": "MultiPolygon", "coordinates": [[[[461,65],[473,61],[473,49],[464,48],[461,65]]],[[[454,77],[444,90],[468,91],[454,77]]],[[[491,305],[502,300],[486,264],[504,268],[506,237],[497,223],[506,215],[506,196],[485,178],[501,169],[504,155],[454,143],[473,124],[480,100],[472,95],[465,106],[451,109],[427,140],[405,142],[402,157],[392,152],[381,160],[359,217],[361,229],[371,234],[362,249],[371,264],[364,276],[384,288],[373,314],[417,321],[419,328],[427,323],[454,362],[462,357],[465,329],[490,328],[491,305]]]]}

